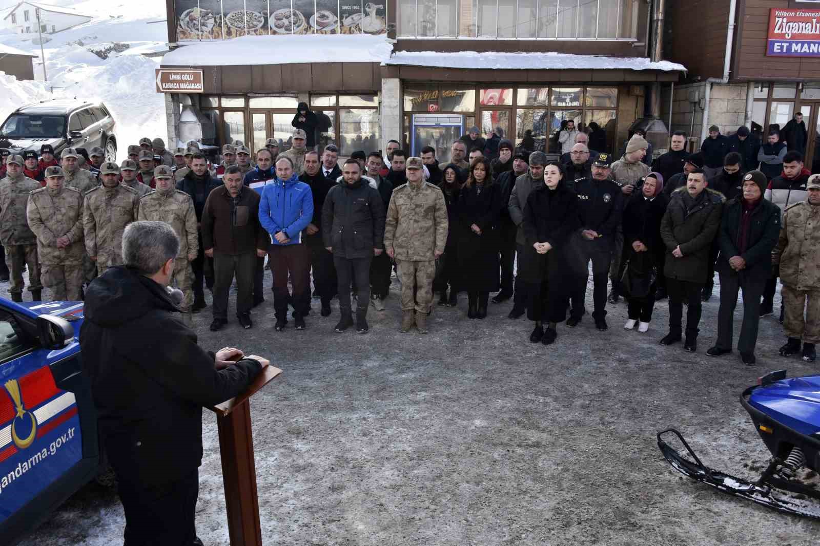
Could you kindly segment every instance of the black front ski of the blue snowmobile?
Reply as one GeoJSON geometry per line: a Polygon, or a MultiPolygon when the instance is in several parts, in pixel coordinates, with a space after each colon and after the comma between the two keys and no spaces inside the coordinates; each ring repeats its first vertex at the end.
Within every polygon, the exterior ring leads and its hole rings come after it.
{"type": "Polygon", "coordinates": [[[795,481],[782,479],[778,471],[781,471],[784,465],[777,457],[772,458],[760,480],[753,483],[705,466],[699,457],[695,455],[689,444],[686,443],[686,440],[683,439],[681,433],[675,429],[658,432],[658,448],[663,453],[663,457],[676,471],[689,476],[693,480],[711,485],[718,491],[736,497],[748,498],[754,503],[763,504],[763,506],[793,516],[820,519],[820,506],[811,500],[812,498],[820,499],[820,492],[795,481]],[[693,460],[681,456],[680,453],[667,444],[662,438],[663,435],[667,434],[676,435],[693,460]],[[799,495],[800,498],[790,496],[788,493],[799,495]]]}

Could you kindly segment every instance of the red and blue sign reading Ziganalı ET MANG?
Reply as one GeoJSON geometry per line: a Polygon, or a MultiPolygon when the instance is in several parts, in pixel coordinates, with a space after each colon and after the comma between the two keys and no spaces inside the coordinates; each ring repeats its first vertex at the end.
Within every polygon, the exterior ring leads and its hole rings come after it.
{"type": "Polygon", "coordinates": [[[769,10],[768,57],[820,57],[820,10],[769,10]]]}

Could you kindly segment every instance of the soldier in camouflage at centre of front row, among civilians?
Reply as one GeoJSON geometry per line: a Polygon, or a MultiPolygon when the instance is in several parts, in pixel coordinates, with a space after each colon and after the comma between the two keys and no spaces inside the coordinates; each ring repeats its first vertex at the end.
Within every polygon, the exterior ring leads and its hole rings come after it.
{"type": "Polygon", "coordinates": [[[447,206],[438,186],[423,180],[421,158],[408,157],[405,168],[408,183],[393,190],[387,207],[385,249],[395,260],[402,282],[401,330],[410,331],[415,311],[416,327],[426,334],[427,313],[433,301],[435,259],[444,254],[447,243],[447,206]]]}

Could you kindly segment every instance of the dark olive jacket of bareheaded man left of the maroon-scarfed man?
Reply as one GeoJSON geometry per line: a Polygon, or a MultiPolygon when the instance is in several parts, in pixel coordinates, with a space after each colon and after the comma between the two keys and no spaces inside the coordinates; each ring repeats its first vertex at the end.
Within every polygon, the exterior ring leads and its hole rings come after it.
{"type": "Polygon", "coordinates": [[[709,251],[720,227],[723,196],[704,189],[687,209],[686,189],[676,189],[661,221],[661,238],[667,254],[663,275],[667,279],[705,283],[708,276],[709,251]],[[672,256],[680,245],[682,257],[672,256]]]}

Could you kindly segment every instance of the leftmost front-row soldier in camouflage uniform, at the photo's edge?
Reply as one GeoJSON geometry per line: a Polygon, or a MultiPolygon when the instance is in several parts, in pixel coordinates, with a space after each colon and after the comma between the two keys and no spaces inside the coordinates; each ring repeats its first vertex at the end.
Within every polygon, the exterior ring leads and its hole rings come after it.
{"type": "Polygon", "coordinates": [[[6,160],[6,178],[0,180],[0,242],[6,248],[6,264],[11,271],[8,292],[15,302],[23,301],[23,267],[29,266],[31,299],[39,301],[40,264],[37,260],[37,237],[29,229],[25,206],[29,193],[40,189],[40,183],[23,174],[23,158],[11,155],[6,160]]]}

